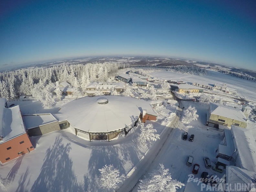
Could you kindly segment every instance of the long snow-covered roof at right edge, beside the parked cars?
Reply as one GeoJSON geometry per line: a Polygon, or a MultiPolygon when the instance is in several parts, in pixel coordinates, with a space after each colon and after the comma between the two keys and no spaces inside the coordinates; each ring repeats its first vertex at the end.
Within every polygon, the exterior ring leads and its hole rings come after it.
{"type": "Polygon", "coordinates": [[[256,143],[251,130],[231,125],[241,168],[256,172],[256,143]]]}

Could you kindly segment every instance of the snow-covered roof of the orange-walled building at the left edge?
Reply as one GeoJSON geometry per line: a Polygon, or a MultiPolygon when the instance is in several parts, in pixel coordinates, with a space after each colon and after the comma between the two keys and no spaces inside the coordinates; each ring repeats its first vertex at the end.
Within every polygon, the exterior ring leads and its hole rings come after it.
{"type": "Polygon", "coordinates": [[[0,104],[0,136],[3,136],[3,139],[0,144],[26,133],[19,105],[5,108],[2,101],[0,104]]]}

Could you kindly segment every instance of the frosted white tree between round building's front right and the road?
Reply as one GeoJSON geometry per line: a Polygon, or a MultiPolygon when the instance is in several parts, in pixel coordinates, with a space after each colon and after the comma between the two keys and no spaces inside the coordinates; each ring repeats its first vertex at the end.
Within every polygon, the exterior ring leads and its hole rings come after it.
{"type": "Polygon", "coordinates": [[[149,144],[149,146],[151,146],[154,141],[156,141],[157,139],[160,139],[159,137],[160,135],[156,134],[157,131],[154,129],[152,123],[146,125],[146,127],[144,127],[144,123],[141,123],[140,130],[141,130],[141,133],[138,139],[142,145],[149,144]]]}

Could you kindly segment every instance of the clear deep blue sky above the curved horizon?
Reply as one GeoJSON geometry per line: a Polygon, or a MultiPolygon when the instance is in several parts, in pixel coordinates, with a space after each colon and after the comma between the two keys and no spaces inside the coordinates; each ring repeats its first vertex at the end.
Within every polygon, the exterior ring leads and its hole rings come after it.
{"type": "Polygon", "coordinates": [[[256,70],[255,10],[255,0],[2,0],[0,67],[126,54],[256,70]]]}

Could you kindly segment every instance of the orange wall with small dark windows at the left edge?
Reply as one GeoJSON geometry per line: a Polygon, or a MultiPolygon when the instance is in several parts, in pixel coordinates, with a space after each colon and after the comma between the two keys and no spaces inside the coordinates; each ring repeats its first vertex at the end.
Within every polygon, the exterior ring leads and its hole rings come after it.
{"type": "Polygon", "coordinates": [[[18,156],[26,154],[28,153],[28,150],[33,151],[34,147],[30,149],[31,146],[33,145],[31,144],[31,141],[27,136],[27,133],[24,133],[23,135],[20,135],[14,139],[11,139],[9,141],[6,141],[5,143],[0,144],[1,163],[6,163],[8,161],[11,161],[12,159],[17,158],[18,156]],[[21,141],[24,141],[24,143],[20,144],[21,141]],[[11,147],[11,149],[7,150],[8,147],[11,147]],[[22,152],[22,154],[18,155],[19,152],[22,152]],[[10,159],[5,160],[8,157],[10,157],[10,159]]]}

